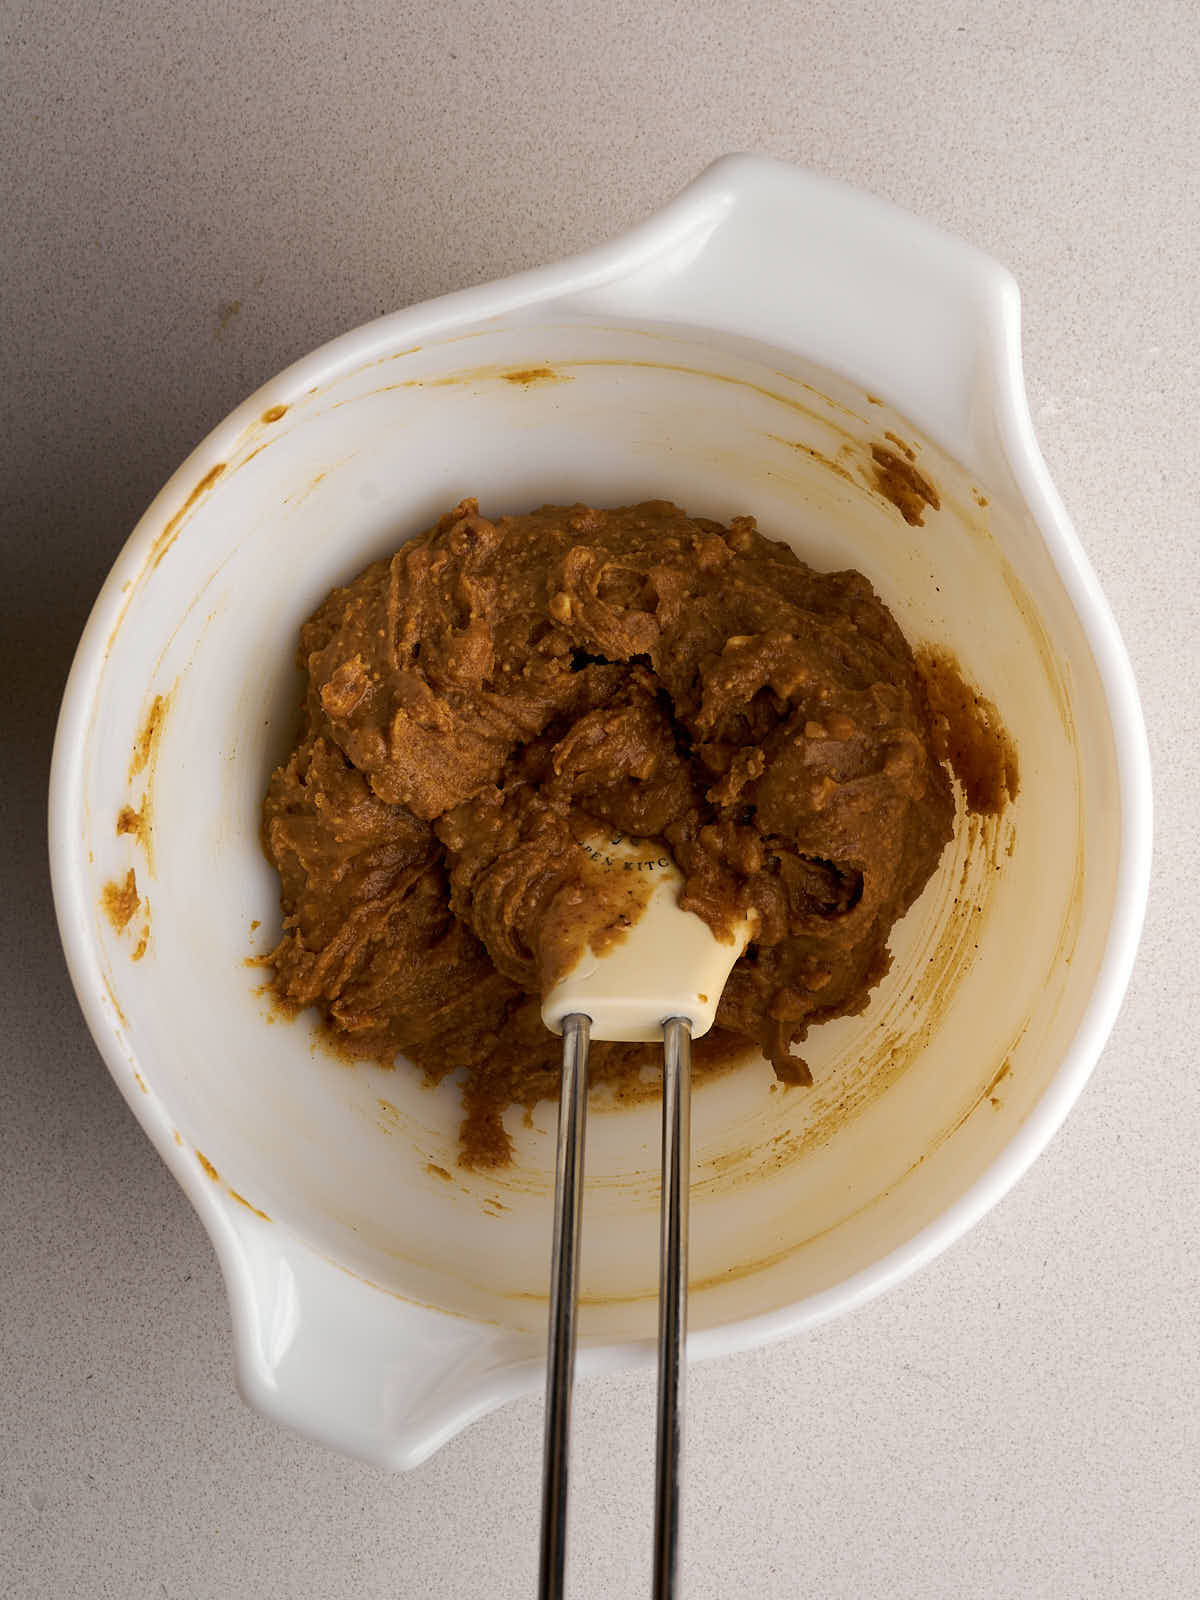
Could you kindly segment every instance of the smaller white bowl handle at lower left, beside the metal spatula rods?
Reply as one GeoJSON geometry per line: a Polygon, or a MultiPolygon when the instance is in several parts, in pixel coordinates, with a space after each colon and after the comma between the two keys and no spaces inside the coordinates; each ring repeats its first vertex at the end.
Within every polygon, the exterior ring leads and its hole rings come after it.
{"type": "Polygon", "coordinates": [[[398,1470],[539,1387],[538,1341],[400,1299],[275,1222],[224,1222],[238,1387],[264,1416],[398,1470]]]}

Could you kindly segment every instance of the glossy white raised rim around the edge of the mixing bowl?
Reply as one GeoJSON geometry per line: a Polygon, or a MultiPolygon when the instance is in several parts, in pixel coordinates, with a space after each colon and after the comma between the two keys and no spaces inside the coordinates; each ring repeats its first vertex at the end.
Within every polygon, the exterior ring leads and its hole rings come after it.
{"type": "MultiPolygon", "coordinates": [[[[355,368],[395,354],[440,333],[478,325],[504,314],[565,301],[581,291],[632,275],[690,237],[702,238],[726,216],[738,195],[758,182],[779,182],[779,173],[811,203],[829,198],[862,208],[907,235],[910,248],[952,250],[960,266],[976,275],[982,338],[992,357],[990,405],[997,435],[1019,496],[1037,525],[1070,595],[1093,651],[1112,720],[1120,787],[1120,862],[1107,942],[1080,1026],[1042,1099],[997,1160],[954,1205],[902,1246],[842,1283],[789,1306],[696,1331],[688,1349],[709,1357],[786,1338],[800,1328],[850,1310],[930,1261],[971,1227],[1026,1173],[1066,1118],[1083,1090],[1117,1018],[1141,934],[1150,870],[1150,765],[1146,728],[1128,654],[1109,605],[1086,562],[1067,512],[1038,450],[1021,370],[1019,294],[1010,274],[974,246],[922,222],[906,211],[859,190],[762,157],[725,157],[702,173],[678,198],[627,234],[562,262],[467,288],[397,310],[341,334],[302,357],[237,406],[190,453],[144,512],[104,582],[70,667],[54,738],[50,776],[50,867],[59,933],[75,994],[93,1038],[150,1136],[158,1154],[195,1206],[221,1261],[234,1310],[235,1339],[245,1350],[253,1283],[246,1280],[238,1229],[245,1219],[224,1192],[203,1178],[195,1160],[173,1134],[166,1107],[155,1093],[141,1093],[128,1070],[130,1056],[104,1000],[104,979],[78,870],[77,837],[82,816],[86,733],[102,678],[107,642],[125,594],[142,573],[155,539],[186,499],[187,490],[234,451],[246,427],[274,405],[291,405],[355,368]]],[[[568,309],[570,314],[570,309],[568,309]]],[[[595,322],[595,317],[589,317],[595,322]]],[[[795,354],[795,352],[790,352],[795,354]]],[[[597,1342],[581,1352],[581,1370],[614,1370],[645,1358],[646,1341],[597,1342]]],[[[501,1384],[502,1387],[502,1384],[501,1384]]],[[[514,1376],[512,1392],[528,1387],[514,1376]]],[[[506,1394],[493,1394],[499,1403],[506,1394]]]]}

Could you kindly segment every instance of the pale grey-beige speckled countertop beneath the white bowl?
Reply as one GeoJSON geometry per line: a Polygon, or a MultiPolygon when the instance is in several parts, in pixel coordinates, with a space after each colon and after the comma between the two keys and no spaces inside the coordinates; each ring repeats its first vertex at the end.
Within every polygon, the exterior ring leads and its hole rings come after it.
{"type": "MultiPolygon", "coordinates": [[[[1155,883],[1064,1133],[848,1320],[694,1371],[686,1595],[1197,1594],[1200,784],[1190,0],[13,0],[5,285],[0,1594],[533,1594],[541,1405],[389,1478],[237,1398],[213,1251],[80,1019],[45,776],[91,598],[248,390],[758,149],[986,246],[1144,696],[1155,883]]],[[[578,1397],[573,1584],[645,1594],[651,1379],[578,1397]]]]}

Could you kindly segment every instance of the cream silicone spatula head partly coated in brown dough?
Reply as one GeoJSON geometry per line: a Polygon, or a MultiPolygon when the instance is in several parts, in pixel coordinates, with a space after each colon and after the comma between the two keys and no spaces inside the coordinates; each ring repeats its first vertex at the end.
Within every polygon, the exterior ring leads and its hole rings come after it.
{"type": "Polygon", "coordinates": [[[678,904],[683,877],[658,845],[616,838],[605,843],[614,872],[651,870],[653,888],[632,926],[600,954],[586,949],[542,998],[542,1021],[562,1034],[563,1018],[592,1021],[592,1038],[619,1043],[662,1038],[669,1018],[685,1018],[691,1037],[712,1027],[733,963],[752,938],[742,920],[731,939],[678,904]]]}

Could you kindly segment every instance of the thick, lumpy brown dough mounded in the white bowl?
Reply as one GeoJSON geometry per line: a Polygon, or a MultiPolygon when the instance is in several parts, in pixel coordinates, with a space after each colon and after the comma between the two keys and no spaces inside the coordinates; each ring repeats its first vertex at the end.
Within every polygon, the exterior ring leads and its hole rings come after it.
{"type": "MultiPolygon", "coordinates": [[[[1003,738],[989,706],[947,741],[861,573],[666,501],[496,522],[464,501],[334,589],[299,662],[264,803],[275,990],[354,1054],[462,1069],[472,1166],[509,1160],[509,1106],[557,1094],[542,990],[637,915],[605,837],[658,842],[718,936],[757,912],[698,1072],[758,1050],[806,1083],[792,1046],[866,1006],[950,838],[944,760],[1003,738]]],[[[1006,746],[971,773],[974,810],[1016,792],[1006,746]]],[[[646,1059],[594,1045],[590,1075],[646,1059]]]]}

